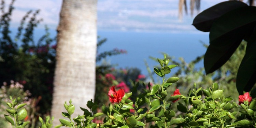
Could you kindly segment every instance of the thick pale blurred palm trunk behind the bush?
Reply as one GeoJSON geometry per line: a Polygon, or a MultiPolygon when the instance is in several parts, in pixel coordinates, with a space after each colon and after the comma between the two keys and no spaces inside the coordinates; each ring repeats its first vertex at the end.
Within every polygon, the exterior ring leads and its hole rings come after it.
{"type": "Polygon", "coordinates": [[[75,105],[72,117],[94,99],[97,48],[97,0],[63,0],[57,28],[57,55],[52,116],[59,125],[65,101],[75,105]]]}

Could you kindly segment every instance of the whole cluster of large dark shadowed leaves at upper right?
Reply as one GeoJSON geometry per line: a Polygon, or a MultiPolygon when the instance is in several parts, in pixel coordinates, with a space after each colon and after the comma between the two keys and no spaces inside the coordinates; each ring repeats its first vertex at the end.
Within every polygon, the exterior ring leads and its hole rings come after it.
{"type": "Polygon", "coordinates": [[[242,40],[247,42],[236,78],[239,94],[250,91],[256,82],[255,12],[255,6],[248,6],[240,1],[226,1],[204,10],[193,22],[198,30],[210,31],[210,45],[204,56],[207,74],[223,66],[242,40]]]}

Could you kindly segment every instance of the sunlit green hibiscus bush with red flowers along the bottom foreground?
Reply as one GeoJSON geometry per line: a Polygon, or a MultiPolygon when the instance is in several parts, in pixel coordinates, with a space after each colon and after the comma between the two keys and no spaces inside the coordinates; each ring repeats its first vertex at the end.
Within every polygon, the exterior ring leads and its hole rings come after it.
{"type": "MultiPolygon", "coordinates": [[[[154,72],[161,77],[161,84],[151,87],[150,83],[144,84],[133,82],[130,93],[125,93],[124,89],[116,89],[112,86],[108,93],[108,105],[98,109],[98,103],[87,102],[89,110],[81,108],[84,113],[71,118],[75,111],[75,106],[70,100],[65,102],[67,110],[62,112],[63,119],[59,119],[60,125],[70,128],[228,128],[228,127],[256,127],[256,100],[252,99],[248,92],[239,96],[239,102],[234,102],[231,97],[223,95],[224,90],[219,89],[217,83],[209,88],[194,87],[187,94],[181,94],[179,88],[173,87],[178,77],[166,77],[171,69],[177,65],[168,65],[169,59],[158,59],[161,68],[154,68],[154,72]],[[137,89],[142,84],[144,89],[137,89]],[[168,94],[167,90],[172,90],[173,94],[168,94]],[[178,111],[173,111],[171,106],[175,105],[178,111]],[[239,110],[239,111],[237,111],[239,110]],[[103,122],[95,122],[95,118],[104,116],[103,122]]],[[[110,78],[113,77],[109,75],[110,78]]],[[[113,78],[111,78],[113,79],[113,78]]],[[[26,104],[17,104],[15,99],[6,103],[9,109],[5,119],[16,127],[25,127],[28,123],[24,119],[27,116],[26,104]]],[[[51,128],[51,119],[46,117],[41,128],[51,128]]]]}

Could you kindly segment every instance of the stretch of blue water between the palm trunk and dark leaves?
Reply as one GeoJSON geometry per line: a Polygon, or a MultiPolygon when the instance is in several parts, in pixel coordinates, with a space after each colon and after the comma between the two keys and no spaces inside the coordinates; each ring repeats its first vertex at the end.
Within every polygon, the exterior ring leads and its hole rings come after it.
{"type": "MultiPolygon", "coordinates": [[[[173,56],[175,60],[183,57],[186,62],[194,60],[206,52],[202,43],[209,44],[209,33],[142,33],[142,32],[115,32],[98,31],[98,35],[107,38],[99,52],[113,48],[126,49],[127,54],[106,58],[111,64],[118,64],[117,68],[137,67],[142,74],[147,75],[144,60],[153,70],[158,63],[149,56],[163,58],[161,52],[173,56]]],[[[203,67],[201,61],[196,67],[203,67]]]]}

